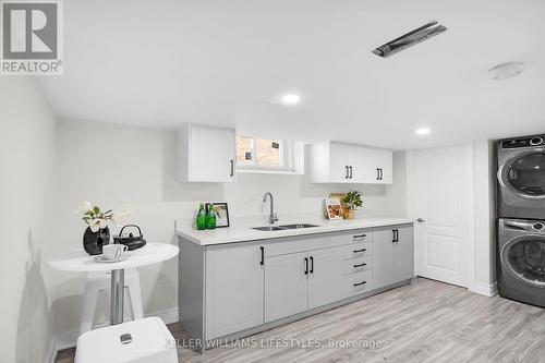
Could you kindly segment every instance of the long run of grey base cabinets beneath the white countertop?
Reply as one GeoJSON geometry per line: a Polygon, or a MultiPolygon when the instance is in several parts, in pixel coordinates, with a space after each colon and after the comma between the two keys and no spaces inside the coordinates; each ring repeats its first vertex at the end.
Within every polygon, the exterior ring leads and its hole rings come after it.
{"type": "Polygon", "coordinates": [[[413,277],[412,233],[403,225],[214,246],[180,239],[180,322],[209,341],[399,286],[413,277]]]}

